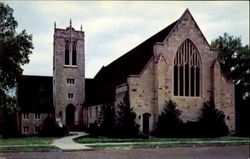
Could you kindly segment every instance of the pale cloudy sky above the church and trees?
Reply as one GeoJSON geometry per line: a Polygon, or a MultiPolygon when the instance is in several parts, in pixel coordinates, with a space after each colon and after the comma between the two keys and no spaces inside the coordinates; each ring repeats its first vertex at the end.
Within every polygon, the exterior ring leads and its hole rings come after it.
{"type": "Polygon", "coordinates": [[[249,2],[241,1],[5,1],[14,9],[18,31],[33,35],[33,54],[25,75],[52,75],[54,21],[85,32],[86,77],[92,78],[188,8],[210,43],[228,32],[249,44],[249,2]]]}

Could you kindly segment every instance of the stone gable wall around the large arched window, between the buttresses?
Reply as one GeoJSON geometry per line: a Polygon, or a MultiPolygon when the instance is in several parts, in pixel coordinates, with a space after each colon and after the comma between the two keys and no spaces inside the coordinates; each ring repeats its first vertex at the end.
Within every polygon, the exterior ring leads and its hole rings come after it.
{"type": "MultiPolygon", "coordinates": [[[[197,28],[190,14],[185,14],[182,17],[182,21],[178,24],[177,28],[172,32],[171,35],[163,44],[155,46],[155,54],[163,53],[166,59],[167,73],[166,73],[166,94],[168,98],[172,99],[179,106],[182,111],[182,119],[184,121],[196,121],[201,115],[201,107],[205,101],[208,101],[211,97],[211,77],[210,67],[214,60],[213,52],[211,52],[209,45],[206,43],[202,33],[197,28]],[[174,96],[173,94],[173,63],[176,52],[179,46],[186,40],[190,39],[197,47],[201,56],[201,95],[199,97],[191,96],[174,96]]],[[[159,75],[162,75],[159,73],[159,75]]],[[[165,101],[166,99],[161,98],[159,100],[165,101]]],[[[163,102],[161,102],[163,103],[163,102]]],[[[162,107],[162,106],[159,106],[162,107]]]]}

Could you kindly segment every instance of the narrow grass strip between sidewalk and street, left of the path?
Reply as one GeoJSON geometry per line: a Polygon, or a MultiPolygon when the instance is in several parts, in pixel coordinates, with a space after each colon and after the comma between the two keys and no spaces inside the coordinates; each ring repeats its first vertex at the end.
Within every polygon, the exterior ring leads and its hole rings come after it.
{"type": "Polygon", "coordinates": [[[15,146],[15,147],[0,147],[0,151],[41,151],[41,150],[58,150],[56,146],[15,146]]]}

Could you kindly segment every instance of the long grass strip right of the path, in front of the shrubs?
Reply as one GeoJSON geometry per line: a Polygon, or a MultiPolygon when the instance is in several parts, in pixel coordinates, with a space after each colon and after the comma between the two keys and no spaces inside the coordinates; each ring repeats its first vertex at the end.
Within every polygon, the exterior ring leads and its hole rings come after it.
{"type": "Polygon", "coordinates": [[[78,137],[74,139],[78,143],[116,143],[116,142],[167,142],[167,141],[235,141],[249,140],[247,137],[224,136],[217,138],[107,138],[107,137],[78,137]]]}

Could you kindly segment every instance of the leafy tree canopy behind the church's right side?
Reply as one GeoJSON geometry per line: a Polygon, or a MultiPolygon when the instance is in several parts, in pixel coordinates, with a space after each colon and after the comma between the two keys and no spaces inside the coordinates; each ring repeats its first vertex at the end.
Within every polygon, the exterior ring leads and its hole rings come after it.
{"type": "Polygon", "coordinates": [[[219,49],[218,59],[222,72],[236,82],[237,93],[246,100],[250,97],[250,52],[242,46],[241,38],[224,33],[212,40],[211,46],[219,49]]]}

